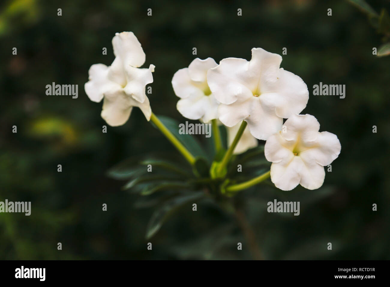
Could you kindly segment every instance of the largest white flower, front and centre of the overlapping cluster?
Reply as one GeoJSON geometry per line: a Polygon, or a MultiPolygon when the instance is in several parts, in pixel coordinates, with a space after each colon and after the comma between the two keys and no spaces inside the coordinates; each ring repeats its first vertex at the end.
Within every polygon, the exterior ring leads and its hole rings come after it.
{"type": "Polygon", "coordinates": [[[280,55],[253,48],[250,61],[227,58],[209,70],[207,83],[221,103],[218,113],[224,125],[245,120],[254,137],[266,140],[280,130],[283,118],[306,107],[305,82],[279,68],[281,62],[280,55]]]}

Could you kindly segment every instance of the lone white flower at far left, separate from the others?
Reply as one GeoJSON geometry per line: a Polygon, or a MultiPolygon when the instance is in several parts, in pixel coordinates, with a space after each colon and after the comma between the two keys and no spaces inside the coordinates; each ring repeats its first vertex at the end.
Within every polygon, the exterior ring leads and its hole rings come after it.
{"type": "Polygon", "coordinates": [[[153,82],[154,66],[137,68],[144,64],[145,53],[133,32],[116,33],[112,46],[114,61],[109,67],[91,66],[89,81],[84,85],[85,93],[93,102],[104,98],[101,117],[110,126],[126,123],[133,107],[139,107],[149,121],[152,110],[145,87],[153,82]]]}

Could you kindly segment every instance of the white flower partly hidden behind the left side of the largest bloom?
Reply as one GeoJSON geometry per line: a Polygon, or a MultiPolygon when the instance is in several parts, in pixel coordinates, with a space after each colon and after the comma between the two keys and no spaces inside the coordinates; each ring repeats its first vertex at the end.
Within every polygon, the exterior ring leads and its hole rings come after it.
{"type": "Polygon", "coordinates": [[[188,119],[200,119],[204,123],[218,118],[218,101],[207,86],[207,71],[217,66],[212,58],[196,58],[188,68],[178,70],[172,78],[177,110],[188,119]]]}

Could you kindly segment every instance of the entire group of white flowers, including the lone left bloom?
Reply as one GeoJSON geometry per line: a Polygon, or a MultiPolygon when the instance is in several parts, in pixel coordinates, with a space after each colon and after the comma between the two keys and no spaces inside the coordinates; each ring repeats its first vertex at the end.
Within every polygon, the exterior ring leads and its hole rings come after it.
{"type": "MultiPolygon", "coordinates": [[[[104,99],[101,116],[111,126],[126,123],[131,109],[139,107],[149,121],[151,107],[145,94],[153,82],[154,66],[138,68],[145,53],[132,32],[112,39],[115,60],[111,66],[94,64],[89,70],[85,92],[90,100],[104,99]]],[[[180,98],[177,110],[188,119],[207,123],[213,119],[228,129],[232,143],[242,121],[244,131],[234,153],[243,153],[266,140],[265,157],[271,164],[271,180],[282,190],[298,184],[307,189],[322,186],[324,166],[340,153],[336,135],[319,132],[314,116],[299,113],[305,109],[309,93],[303,80],[280,68],[282,57],[261,48],[252,49],[252,59],[194,59],[188,68],[172,78],[180,98]],[[282,132],[283,119],[286,127],[282,132]]]]}

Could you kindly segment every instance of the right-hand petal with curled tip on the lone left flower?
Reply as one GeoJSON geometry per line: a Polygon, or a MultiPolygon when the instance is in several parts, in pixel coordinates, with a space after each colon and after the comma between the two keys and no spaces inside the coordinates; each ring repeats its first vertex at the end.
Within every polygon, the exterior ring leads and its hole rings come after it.
{"type": "Polygon", "coordinates": [[[145,94],[145,87],[147,84],[153,82],[151,68],[134,68],[132,66],[127,66],[125,70],[127,85],[124,87],[124,91],[133,99],[143,103],[147,98],[145,94]]]}

